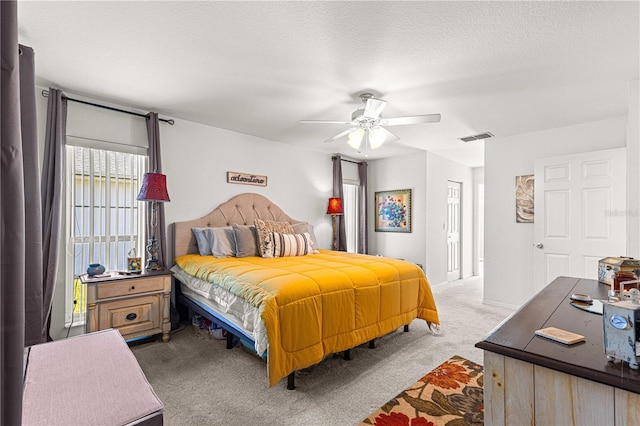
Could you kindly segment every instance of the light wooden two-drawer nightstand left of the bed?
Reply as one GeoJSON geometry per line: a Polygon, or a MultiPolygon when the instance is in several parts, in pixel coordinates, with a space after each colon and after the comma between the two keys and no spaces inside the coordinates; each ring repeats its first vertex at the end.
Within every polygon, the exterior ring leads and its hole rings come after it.
{"type": "Polygon", "coordinates": [[[82,275],[87,285],[87,333],[115,328],[125,340],[162,333],[162,341],[168,342],[171,276],[169,270],[82,275]]]}

